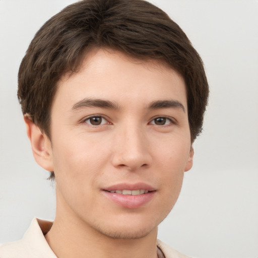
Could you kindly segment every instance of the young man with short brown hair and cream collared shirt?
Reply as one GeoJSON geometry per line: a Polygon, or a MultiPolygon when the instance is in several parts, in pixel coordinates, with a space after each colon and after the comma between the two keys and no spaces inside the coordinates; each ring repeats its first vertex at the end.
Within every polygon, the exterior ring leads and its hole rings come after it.
{"type": "Polygon", "coordinates": [[[157,229],[192,166],[209,90],[178,25],[141,0],[78,2],[37,32],[18,84],[56,217],[33,220],[1,258],[186,257],[157,229]]]}

